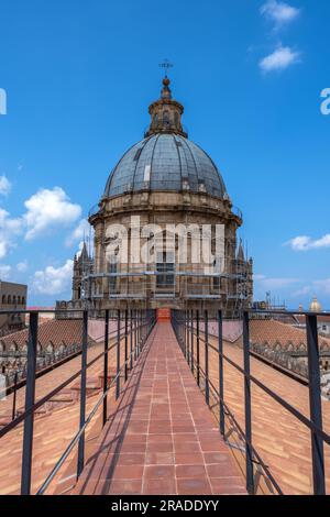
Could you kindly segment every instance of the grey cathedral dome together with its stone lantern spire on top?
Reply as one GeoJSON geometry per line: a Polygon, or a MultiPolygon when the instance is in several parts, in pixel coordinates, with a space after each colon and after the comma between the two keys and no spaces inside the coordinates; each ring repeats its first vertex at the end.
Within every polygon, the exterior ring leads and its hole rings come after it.
{"type": "Polygon", "coordinates": [[[184,107],[172,98],[169,84],[166,76],[161,98],[148,107],[151,124],[144,140],[133,145],[111,172],[105,198],[141,190],[227,196],[212,160],[187,139],[182,125],[184,107]]]}

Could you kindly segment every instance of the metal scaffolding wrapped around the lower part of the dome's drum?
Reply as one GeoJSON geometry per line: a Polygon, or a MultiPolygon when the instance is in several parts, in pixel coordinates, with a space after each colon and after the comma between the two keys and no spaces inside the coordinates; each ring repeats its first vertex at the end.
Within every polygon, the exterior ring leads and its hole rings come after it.
{"type": "Polygon", "coordinates": [[[182,304],[202,307],[206,302],[221,302],[226,314],[238,317],[251,299],[251,272],[249,262],[231,261],[230,273],[205,272],[199,265],[154,263],[146,265],[109,265],[99,273],[89,271],[81,279],[81,299],[94,307],[109,301],[128,306],[139,302],[176,306],[182,304]]]}

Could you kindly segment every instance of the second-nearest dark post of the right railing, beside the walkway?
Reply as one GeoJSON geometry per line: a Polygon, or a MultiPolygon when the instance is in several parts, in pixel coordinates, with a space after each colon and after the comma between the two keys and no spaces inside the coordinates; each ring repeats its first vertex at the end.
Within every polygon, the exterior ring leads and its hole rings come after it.
{"type": "Polygon", "coordinates": [[[250,329],[249,312],[243,314],[243,349],[244,349],[244,405],[245,405],[245,462],[246,490],[254,494],[252,424],[251,424],[251,381],[250,381],[250,329]]]}

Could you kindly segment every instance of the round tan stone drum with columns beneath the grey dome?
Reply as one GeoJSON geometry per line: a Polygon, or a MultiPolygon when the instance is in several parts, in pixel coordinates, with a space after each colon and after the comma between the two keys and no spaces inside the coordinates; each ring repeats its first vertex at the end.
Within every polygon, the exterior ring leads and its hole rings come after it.
{"type": "MultiPolygon", "coordinates": [[[[230,200],[212,198],[207,194],[144,191],[105,199],[99,211],[91,216],[95,229],[95,275],[91,275],[90,297],[96,307],[116,308],[170,307],[198,308],[201,306],[226,308],[233,311],[239,304],[248,306],[252,297],[252,263],[237,257],[237,230],[242,224],[240,213],[232,210],[230,200]],[[132,217],[140,217],[141,226],[158,224],[216,224],[224,226],[226,268],[221,278],[205,274],[206,265],[178,264],[178,243],[175,246],[175,267],[172,285],[157,285],[157,265],[119,264],[117,277],[107,271],[107,230],[112,224],[128,228],[129,250],[131,249],[132,217]],[[246,278],[243,279],[243,275],[246,278]],[[120,276],[122,275],[122,276],[120,276]],[[198,276],[200,275],[200,276],[198,276]],[[112,292],[111,292],[112,290],[112,292]],[[231,296],[228,296],[230,294],[231,296]]],[[[141,239],[141,245],[147,239],[141,239]]],[[[187,240],[188,258],[191,256],[191,240],[187,240]]],[[[169,273],[169,272],[167,272],[169,273]]]]}

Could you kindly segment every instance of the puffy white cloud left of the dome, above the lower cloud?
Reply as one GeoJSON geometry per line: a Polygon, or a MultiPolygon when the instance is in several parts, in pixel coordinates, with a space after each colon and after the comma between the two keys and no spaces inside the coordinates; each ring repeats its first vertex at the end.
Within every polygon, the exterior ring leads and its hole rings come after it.
{"type": "Polygon", "coordinates": [[[81,216],[81,207],[70,202],[61,187],[41,189],[25,201],[25,239],[35,239],[55,227],[68,227],[81,216]]]}

